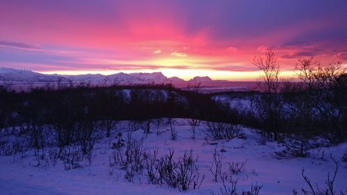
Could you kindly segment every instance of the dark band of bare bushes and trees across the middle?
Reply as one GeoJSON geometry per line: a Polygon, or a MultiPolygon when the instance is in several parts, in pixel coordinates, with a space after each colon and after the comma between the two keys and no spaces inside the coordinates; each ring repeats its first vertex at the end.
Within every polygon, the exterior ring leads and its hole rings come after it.
{"type": "MultiPolygon", "coordinates": [[[[257,128],[264,143],[266,139],[286,143],[285,151],[278,152],[281,156],[309,155],[312,138],[322,137],[332,144],[347,139],[347,74],[341,63],[322,65],[314,58],[299,58],[296,71],[301,82],[279,81],[280,66],[273,51],[253,63],[264,74],[262,90],[231,94],[248,99],[248,110],[232,108],[229,102],[214,99],[215,94],[172,85],[70,82],[28,92],[0,87],[0,130],[18,138],[10,146],[0,143],[0,152],[25,155],[31,148],[43,159],[46,148],[56,146],[58,158],[69,163],[74,160],[67,158],[74,157],[76,149],[88,160],[96,142],[110,137],[121,120],[131,121],[130,130],[145,134],[155,130],[159,135],[167,126],[171,139],[176,139],[174,118],[187,119],[193,139],[200,121],[207,121],[205,135],[213,139],[241,136],[239,125],[257,128]]],[[[74,159],[81,160],[79,156],[74,159]]]]}

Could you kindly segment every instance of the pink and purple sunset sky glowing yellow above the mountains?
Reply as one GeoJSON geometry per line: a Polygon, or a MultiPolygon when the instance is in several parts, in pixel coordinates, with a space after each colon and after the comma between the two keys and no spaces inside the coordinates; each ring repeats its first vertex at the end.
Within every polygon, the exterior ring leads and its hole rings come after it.
{"type": "Polygon", "coordinates": [[[0,67],[253,80],[273,49],[347,62],[346,0],[1,0],[0,67]]]}

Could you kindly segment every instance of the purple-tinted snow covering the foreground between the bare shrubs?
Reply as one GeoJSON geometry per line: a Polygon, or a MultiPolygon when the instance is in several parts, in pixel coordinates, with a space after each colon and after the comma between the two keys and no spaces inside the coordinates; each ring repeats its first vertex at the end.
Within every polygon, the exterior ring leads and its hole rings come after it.
{"type": "MultiPolygon", "coordinates": [[[[0,156],[0,194],[219,194],[222,183],[214,182],[210,167],[212,151],[223,149],[223,171],[227,171],[227,162],[246,161],[245,169],[234,178],[239,178],[237,189],[250,189],[251,184],[262,185],[260,194],[291,194],[292,189],[307,188],[301,176],[301,169],[312,183],[324,185],[328,172],[334,171],[334,163],[330,158],[321,159],[330,154],[340,160],[335,180],[335,189],[347,190],[347,164],[341,157],[347,151],[347,143],[312,151],[308,158],[289,158],[278,160],[274,155],[282,146],[276,142],[261,145],[260,135],[255,130],[243,128],[245,139],[206,140],[203,125],[198,127],[197,139],[191,139],[189,126],[185,120],[178,119],[176,124],[178,137],[171,140],[169,130],[160,135],[151,133],[144,135],[141,130],[133,133],[137,139],[144,140],[144,149],[159,149],[159,155],[167,154],[169,149],[175,150],[176,157],[182,156],[186,150],[192,149],[198,155],[199,171],[205,174],[200,189],[188,189],[180,192],[165,185],[150,185],[146,178],[135,176],[134,183],[124,179],[124,171],[119,167],[110,167],[109,156],[112,153],[110,143],[115,138],[102,139],[94,151],[94,159],[90,166],[66,171],[58,161],[55,167],[35,167],[33,152],[26,158],[17,156],[0,156]]],[[[126,128],[124,128],[126,131],[126,128]]],[[[126,133],[124,133],[126,135],[126,133]]],[[[115,133],[113,136],[115,137],[115,133]]],[[[324,186],[325,187],[325,186],[324,186]]]]}

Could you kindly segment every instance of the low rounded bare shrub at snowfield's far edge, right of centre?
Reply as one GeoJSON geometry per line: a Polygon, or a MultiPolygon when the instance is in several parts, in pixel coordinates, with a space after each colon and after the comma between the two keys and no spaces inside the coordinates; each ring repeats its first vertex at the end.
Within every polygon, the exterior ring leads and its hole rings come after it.
{"type": "Polygon", "coordinates": [[[241,128],[234,124],[206,122],[205,135],[212,139],[234,139],[242,136],[241,128]]]}

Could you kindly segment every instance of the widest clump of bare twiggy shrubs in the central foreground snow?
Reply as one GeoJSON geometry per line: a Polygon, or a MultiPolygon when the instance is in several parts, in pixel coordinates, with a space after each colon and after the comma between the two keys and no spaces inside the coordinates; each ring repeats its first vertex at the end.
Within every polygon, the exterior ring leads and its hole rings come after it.
{"type": "Polygon", "coordinates": [[[142,149],[142,142],[128,139],[125,149],[116,149],[109,157],[110,167],[119,165],[124,169],[124,178],[134,183],[134,177],[146,176],[149,183],[168,185],[172,188],[187,190],[200,187],[205,176],[198,171],[197,156],[193,151],[185,151],[182,158],[174,159],[174,151],[158,158],[158,149],[142,149]]]}

